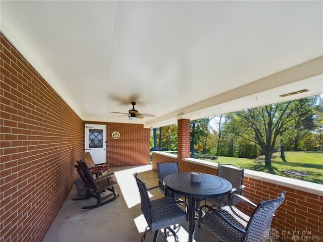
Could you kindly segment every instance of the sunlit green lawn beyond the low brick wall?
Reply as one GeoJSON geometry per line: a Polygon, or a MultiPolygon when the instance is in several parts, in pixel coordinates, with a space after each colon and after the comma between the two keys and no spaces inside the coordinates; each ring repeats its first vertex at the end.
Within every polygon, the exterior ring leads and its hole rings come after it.
{"type": "Polygon", "coordinates": [[[277,175],[284,175],[283,170],[292,170],[298,172],[306,172],[310,176],[306,176],[305,180],[312,183],[323,184],[323,153],[322,152],[303,152],[290,151],[285,152],[287,162],[284,162],[279,156],[280,153],[274,153],[272,165],[264,164],[264,156],[255,159],[235,158],[220,156],[218,160],[209,160],[219,163],[235,164],[239,167],[268,172],[272,170],[277,175]],[[258,162],[256,162],[258,161],[258,162]]]}

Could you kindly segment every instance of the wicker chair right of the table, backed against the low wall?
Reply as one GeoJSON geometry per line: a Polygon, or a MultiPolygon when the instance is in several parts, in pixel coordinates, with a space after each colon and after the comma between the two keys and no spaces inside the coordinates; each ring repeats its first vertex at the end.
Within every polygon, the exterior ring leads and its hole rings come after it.
{"type": "MultiPolygon", "coordinates": [[[[218,176],[225,178],[232,184],[232,193],[242,195],[242,189],[245,187],[243,183],[244,169],[232,164],[220,164],[218,166],[218,176]]],[[[207,198],[206,201],[211,203],[211,207],[217,206],[221,208],[229,204],[228,196],[217,197],[217,198],[207,198]]],[[[232,205],[237,205],[241,203],[240,198],[234,198],[232,205]]]]}

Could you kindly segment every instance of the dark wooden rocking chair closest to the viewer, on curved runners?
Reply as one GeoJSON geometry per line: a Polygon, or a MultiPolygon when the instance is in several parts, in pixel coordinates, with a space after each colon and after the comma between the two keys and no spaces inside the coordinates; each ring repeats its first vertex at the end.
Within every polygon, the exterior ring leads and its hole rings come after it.
{"type": "MultiPolygon", "coordinates": [[[[79,164],[81,163],[84,163],[84,162],[79,161],[79,164]]],[[[86,187],[87,190],[86,190],[85,197],[73,198],[72,200],[84,200],[84,199],[90,199],[91,197],[94,197],[97,199],[96,205],[84,206],[82,207],[82,209],[97,208],[99,206],[112,202],[113,200],[115,200],[120,196],[120,194],[117,194],[116,189],[114,187],[115,185],[117,185],[116,181],[111,179],[111,176],[114,175],[114,173],[109,173],[94,179],[93,174],[91,173],[89,168],[85,167],[85,164],[75,165],[75,167],[80,177],[82,178],[84,182],[84,186],[86,187]],[[110,191],[111,193],[102,197],[102,193],[107,191],[110,191]],[[105,201],[102,202],[103,200],[105,201]]]]}

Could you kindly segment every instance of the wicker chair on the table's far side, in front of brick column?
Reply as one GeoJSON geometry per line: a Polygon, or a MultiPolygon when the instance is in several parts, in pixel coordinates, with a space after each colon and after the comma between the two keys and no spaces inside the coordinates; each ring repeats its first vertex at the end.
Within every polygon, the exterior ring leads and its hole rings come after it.
{"type": "MultiPolygon", "coordinates": [[[[157,171],[158,171],[158,177],[157,177],[158,184],[164,185],[163,181],[166,176],[179,172],[178,162],[177,161],[159,162],[157,163],[157,171]]],[[[164,186],[159,186],[158,191],[165,196],[166,191],[164,186]]],[[[174,193],[172,191],[167,191],[166,195],[172,198],[173,200],[181,199],[183,197],[183,195],[174,193]]]]}

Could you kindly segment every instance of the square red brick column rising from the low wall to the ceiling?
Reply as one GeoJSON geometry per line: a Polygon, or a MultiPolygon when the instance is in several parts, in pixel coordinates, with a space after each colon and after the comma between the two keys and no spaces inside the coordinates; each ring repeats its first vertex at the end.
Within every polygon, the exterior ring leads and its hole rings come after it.
{"type": "Polygon", "coordinates": [[[177,157],[190,157],[190,120],[177,120],[177,157]]]}

